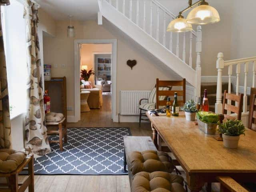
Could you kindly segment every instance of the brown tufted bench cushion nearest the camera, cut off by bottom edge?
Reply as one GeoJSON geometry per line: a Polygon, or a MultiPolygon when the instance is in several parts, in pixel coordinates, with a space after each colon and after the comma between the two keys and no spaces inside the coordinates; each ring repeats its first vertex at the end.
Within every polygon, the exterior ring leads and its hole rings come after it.
{"type": "Polygon", "coordinates": [[[185,192],[181,176],[166,172],[139,172],[132,180],[132,192],[185,192]],[[182,184],[181,184],[182,183],[182,184]]]}

